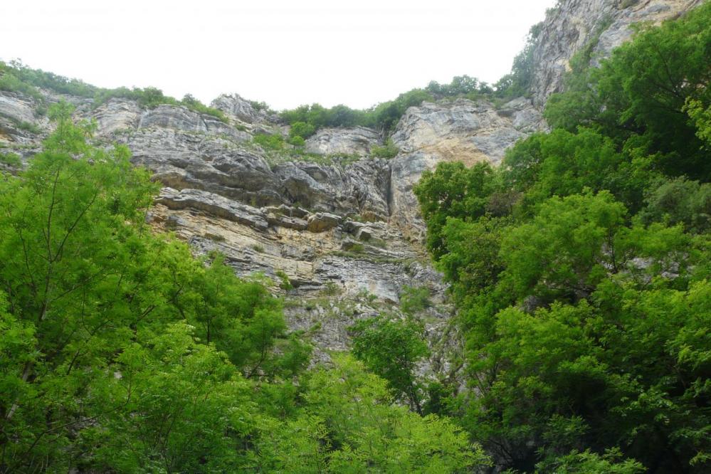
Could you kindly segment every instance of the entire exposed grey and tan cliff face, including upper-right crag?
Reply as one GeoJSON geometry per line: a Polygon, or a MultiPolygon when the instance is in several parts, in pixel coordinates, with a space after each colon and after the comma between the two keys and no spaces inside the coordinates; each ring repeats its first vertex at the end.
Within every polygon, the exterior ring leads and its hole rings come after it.
{"type": "Polygon", "coordinates": [[[97,107],[90,99],[48,91],[41,91],[42,104],[0,91],[0,144],[26,162],[51,132],[42,109],[60,99],[72,102],[78,118],[95,120],[98,144],[127,145],[133,162],[163,185],[149,215],[152,226],[174,232],[196,254],[223,253],[237,275],[273,280],[290,325],[310,334],[317,359],[348,347],[354,320],[398,312],[403,289],[416,286],[428,288],[433,303],[423,315],[438,348],[429,367],[443,371],[457,339],[448,332],[445,285],[421,244],[425,228],[413,193],[421,174],[445,161],[500,164],[518,139],[546,130],[542,105],[561,90],[579,48],[594,39],[592,57],[599,60],[629,38],[631,23],[673,18],[700,3],[560,2],[534,51],[531,98],[411,107],[390,137],[399,148],[393,159],[372,157],[387,137],[365,127],[319,130],[305,145],[312,155],[275,159],[253,137],[286,136],[288,126],[234,94],[211,104],[223,112],[223,122],[176,105],[147,109],[115,98],[97,107]]]}

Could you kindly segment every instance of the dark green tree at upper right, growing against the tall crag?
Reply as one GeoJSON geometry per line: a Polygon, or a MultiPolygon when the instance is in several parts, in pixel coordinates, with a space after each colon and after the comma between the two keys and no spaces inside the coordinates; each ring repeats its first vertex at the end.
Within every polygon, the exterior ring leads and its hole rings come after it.
{"type": "Polygon", "coordinates": [[[711,7],[702,5],[678,21],[641,28],[601,68],[569,80],[572,90],[552,96],[545,117],[569,131],[595,127],[618,144],[653,156],[667,174],[707,179],[711,168],[702,147],[702,117],[711,105],[710,19],[711,7]]]}

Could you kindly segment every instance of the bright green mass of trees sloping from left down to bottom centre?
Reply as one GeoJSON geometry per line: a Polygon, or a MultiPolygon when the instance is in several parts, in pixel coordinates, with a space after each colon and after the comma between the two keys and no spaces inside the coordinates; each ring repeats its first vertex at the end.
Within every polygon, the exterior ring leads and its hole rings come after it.
{"type": "Polygon", "coordinates": [[[452,421],[395,404],[351,357],[307,370],[310,346],[263,279],[155,233],[157,187],[128,149],[93,147],[68,105],[50,115],[43,152],[0,174],[0,472],[489,463],[452,421]]]}

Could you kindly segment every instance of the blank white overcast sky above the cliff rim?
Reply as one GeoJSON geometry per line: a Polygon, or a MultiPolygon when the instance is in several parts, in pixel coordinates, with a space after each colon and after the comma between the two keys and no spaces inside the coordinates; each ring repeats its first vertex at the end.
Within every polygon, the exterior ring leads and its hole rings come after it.
{"type": "Polygon", "coordinates": [[[2,0],[0,58],[209,103],[369,107],[510,70],[555,0],[2,0]]]}

